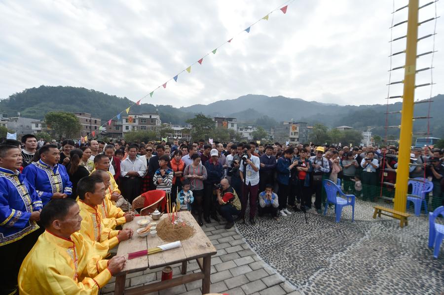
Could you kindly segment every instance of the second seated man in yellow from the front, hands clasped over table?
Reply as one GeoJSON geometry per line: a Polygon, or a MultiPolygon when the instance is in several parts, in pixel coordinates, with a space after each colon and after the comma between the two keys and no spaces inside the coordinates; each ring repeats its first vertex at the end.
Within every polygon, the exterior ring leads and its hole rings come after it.
{"type": "Polygon", "coordinates": [[[92,243],[96,251],[106,257],[109,250],[119,242],[125,241],[133,235],[132,229],[112,230],[103,225],[102,213],[99,206],[105,199],[105,185],[102,178],[87,176],[80,179],[77,184],[82,223],[80,233],[85,240],[92,243]]]}

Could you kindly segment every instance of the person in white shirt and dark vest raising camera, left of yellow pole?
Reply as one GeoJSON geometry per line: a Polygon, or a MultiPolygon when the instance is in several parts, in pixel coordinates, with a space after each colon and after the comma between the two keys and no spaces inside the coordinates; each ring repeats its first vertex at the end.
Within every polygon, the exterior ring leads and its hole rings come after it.
{"type": "Polygon", "coordinates": [[[376,186],[378,184],[378,176],[376,169],[379,167],[378,160],[374,159],[374,152],[368,151],[366,158],[361,161],[362,167],[362,186],[364,200],[373,201],[373,197],[376,195],[376,186]]]}

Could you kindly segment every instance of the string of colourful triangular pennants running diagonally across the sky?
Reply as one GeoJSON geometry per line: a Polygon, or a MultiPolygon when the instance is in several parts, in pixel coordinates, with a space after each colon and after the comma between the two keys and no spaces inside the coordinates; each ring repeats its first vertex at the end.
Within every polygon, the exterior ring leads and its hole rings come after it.
{"type": "MultiPolygon", "coordinates": [[[[256,22],[252,23],[247,29],[244,29],[244,30],[240,31],[240,32],[238,32],[237,34],[240,34],[240,33],[244,32],[244,31],[247,32],[247,33],[250,33],[251,27],[253,27],[253,26],[256,25],[257,23],[259,23],[259,21],[261,21],[261,20],[266,20],[266,21],[268,21],[268,17],[269,17],[269,15],[272,14],[273,12],[277,11],[277,10],[281,10],[282,13],[286,14],[286,13],[287,13],[288,5],[291,4],[291,3],[293,3],[294,1],[295,1],[295,0],[287,0],[287,1],[285,1],[284,3],[282,3],[281,5],[279,5],[277,8],[275,8],[275,9],[271,10],[270,12],[268,12],[268,14],[266,14],[266,15],[265,15],[264,17],[262,17],[261,19],[259,19],[259,20],[257,20],[256,22]],[[282,6],[282,5],[284,5],[284,4],[287,4],[287,5],[282,6]]],[[[219,45],[218,47],[216,47],[216,48],[215,48],[213,51],[211,51],[211,52],[212,52],[213,54],[216,54],[216,52],[217,52],[217,50],[218,50],[219,48],[221,48],[221,47],[222,47],[224,44],[226,44],[226,43],[231,43],[232,40],[233,40],[233,37],[231,37],[231,38],[228,39],[227,41],[223,42],[221,45],[219,45]]],[[[186,70],[188,73],[190,73],[190,72],[191,72],[191,66],[193,66],[193,65],[196,64],[196,63],[199,63],[200,65],[202,65],[203,59],[204,59],[207,55],[209,55],[209,54],[210,54],[210,52],[208,52],[207,54],[205,54],[205,55],[204,55],[202,58],[200,58],[197,62],[194,62],[193,64],[191,64],[190,66],[188,66],[187,68],[185,68],[185,70],[186,70]]],[[[173,77],[174,81],[177,82],[177,79],[178,79],[179,74],[181,74],[181,73],[182,73],[183,71],[185,71],[185,70],[182,70],[180,73],[176,74],[176,75],[173,77]]],[[[170,79],[170,80],[171,80],[171,79],[170,79]]],[[[169,81],[169,80],[168,80],[168,81],[169,81]]],[[[162,84],[163,88],[166,88],[166,84],[168,83],[168,81],[165,82],[164,84],[162,84]]],[[[149,97],[150,97],[150,98],[152,98],[152,96],[153,96],[153,94],[154,94],[154,91],[156,91],[158,88],[160,88],[160,86],[158,86],[157,88],[155,88],[153,91],[151,91],[151,92],[149,93],[149,97]]],[[[147,98],[147,97],[148,97],[148,95],[146,95],[146,96],[144,96],[143,98],[139,99],[136,103],[133,103],[132,105],[130,105],[130,106],[126,109],[126,113],[129,114],[129,110],[130,110],[131,106],[133,106],[133,105],[135,105],[135,104],[136,104],[136,105],[140,105],[142,99],[147,98]]],[[[114,119],[114,118],[117,118],[117,120],[120,120],[120,115],[121,115],[121,113],[123,113],[123,111],[121,111],[121,112],[120,112],[119,114],[117,114],[115,117],[111,118],[111,119],[108,121],[108,125],[111,125],[112,119],[114,119]]],[[[105,125],[105,124],[104,124],[104,125],[105,125]]],[[[101,127],[99,127],[99,128],[97,128],[96,130],[102,130],[102,129],[100,129],[100,128],[104,127],[104,125],[101,126],[101,127]]],[[[92,136],[95,136],[95,131],[96,131],[96,130],[92,131],[90,134],[91,134],[92,136]]],[[[89,134],[86,134],[85,138],[88,138],[88,135],[89,135],[89,134]]]]}

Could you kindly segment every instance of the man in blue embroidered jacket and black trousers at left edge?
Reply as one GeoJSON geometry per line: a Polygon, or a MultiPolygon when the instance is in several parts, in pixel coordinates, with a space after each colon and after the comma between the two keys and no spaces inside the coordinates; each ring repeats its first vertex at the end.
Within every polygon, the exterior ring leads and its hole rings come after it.
{"type": "Polygon", "coordinates": [[[0,294],[15,293],[20,264],[38,237],[42,204],[20,165],[20,149],[0,145],[0,294]]]}

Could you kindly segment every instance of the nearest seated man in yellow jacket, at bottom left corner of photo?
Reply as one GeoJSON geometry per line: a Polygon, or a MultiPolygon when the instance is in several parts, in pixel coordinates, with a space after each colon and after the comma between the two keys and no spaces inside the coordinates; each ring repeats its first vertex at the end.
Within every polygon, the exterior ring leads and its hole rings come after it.
{"type": "Polygon", "coordinates": [[[45,227],[20,267],[21,295],[98,294],[114,273],[122,271],[125,258],[102,260],[77,232],[82,217],[73,199],[52,199],[42,209],[45,227]]]}

